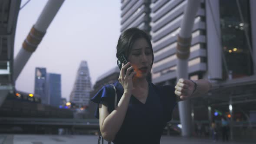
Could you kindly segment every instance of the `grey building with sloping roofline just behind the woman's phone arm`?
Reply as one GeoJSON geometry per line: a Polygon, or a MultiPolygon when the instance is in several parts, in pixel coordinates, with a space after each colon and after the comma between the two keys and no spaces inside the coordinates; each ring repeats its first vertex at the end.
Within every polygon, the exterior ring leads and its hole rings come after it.
{"type": "MultiPolygon", "coordinates": [[[[110,69],[108,72],[103,73],[102,75],[100,75],[96,82],[95,85],[93,85],[93,90],[91,91],[91,98],[104,86],[107,84],[112,84],[115,81],[118,80],[119,78],[119,73],[120,73],[120,69],[116,66],[113,69],[110,69]]],[[[90,101],[89,103],[89,116],[88,118],[95,118],[94,117],[94,112],[95,109],[97,107],[97,104],[95,104],[94,102],[90,101]]]]}

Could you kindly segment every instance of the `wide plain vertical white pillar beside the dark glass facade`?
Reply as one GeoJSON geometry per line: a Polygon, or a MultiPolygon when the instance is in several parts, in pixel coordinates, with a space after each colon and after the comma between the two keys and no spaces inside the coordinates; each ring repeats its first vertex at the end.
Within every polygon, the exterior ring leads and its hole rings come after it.
{"type": "Polygon", "coordinates": [[[210,79],[222,79],[219,0],[205,0],[205,7],[208,74],[210,79]]]}

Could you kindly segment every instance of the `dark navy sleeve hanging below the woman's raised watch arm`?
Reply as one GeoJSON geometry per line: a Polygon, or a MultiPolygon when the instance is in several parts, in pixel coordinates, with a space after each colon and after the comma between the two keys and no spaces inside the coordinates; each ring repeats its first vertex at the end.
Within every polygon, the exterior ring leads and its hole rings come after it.
{"type": "Polygon", "coordinates": [[[175,88],[173,85],[164,85],[163,86],[163,99],[164,99],[164,109],[165,109],[165,117],[166,122],[171,121],[172,111],[174,107],[177,105],[175,88]]]}

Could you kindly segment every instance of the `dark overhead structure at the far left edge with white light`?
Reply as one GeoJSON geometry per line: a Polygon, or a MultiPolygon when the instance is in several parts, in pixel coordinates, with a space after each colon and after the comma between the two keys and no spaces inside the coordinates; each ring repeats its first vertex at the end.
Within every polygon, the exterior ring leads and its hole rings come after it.
{"type": "Polygon", "coordinates": [[[13,83],[13,47],[21,0],[0,1],[0,106],[13,83]]]}

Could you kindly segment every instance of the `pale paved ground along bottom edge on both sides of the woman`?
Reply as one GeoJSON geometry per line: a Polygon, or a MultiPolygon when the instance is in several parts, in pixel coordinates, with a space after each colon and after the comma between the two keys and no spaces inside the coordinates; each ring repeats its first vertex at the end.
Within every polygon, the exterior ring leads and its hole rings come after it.
{"type": "MultiPolygon", "coordinates": [[[[0,135],[0,144],[96,144],[98,136],[92,135],[0,135]]],[[[105,144],[107,142],[105,141],[105,144]]],[[[209,139],[163,136],[160,144],[227,144],[209,139]]],[[[228,144],[245,144],[228,142],[228,144]]],[[[246,143],[253,144],[253,143],[246,143]]]]}

